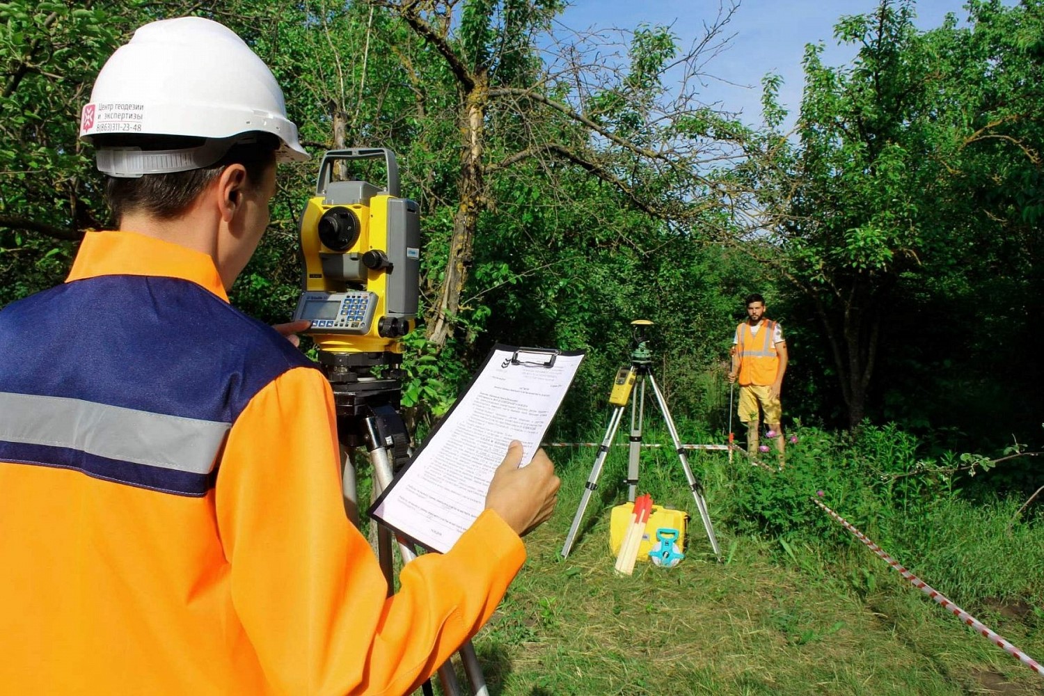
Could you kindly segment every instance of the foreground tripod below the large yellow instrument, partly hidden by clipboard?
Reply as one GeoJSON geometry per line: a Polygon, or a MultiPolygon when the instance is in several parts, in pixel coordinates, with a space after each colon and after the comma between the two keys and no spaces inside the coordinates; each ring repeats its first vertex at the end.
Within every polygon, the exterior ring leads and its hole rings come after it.
{"type": "MultiPolygon", "coordinates": [[[[389,352],[342,353],[321,350],[318,354],[319,366],[333,389],[337,439],[346,448],[342,477],[345,510],[356,527],[359,526],[358,491],[353,464],[356,449],[360,446],[366,448],[374,473],[375,499],[390,485],[395,472],[409,459],[409,436],[399,413],[402,394],[402,371],[399,369],[401,361],[400,354],[389,352]],[[387,367],[386,375],[374,377],[373,368],[379,365],[387,367]]],[[[397,538],[396,542],[403,563],[417,557],[417,550],[412,545],[402,538],[397,538]]],[[[377,556],[390,596],[395,575],[392,532],[379,525],[377,556]]],[[[471,683],[471,693],[474,696],[489,696],[485,677],[471,641],[460,646],[458,654],[471,683]]],[[[438,680],[447,696],[459,696],[462,693],[450,661],[438,668],[438,680]]],[[[423,690],[425,694],[431,694],[430,682],[425,682],[423,690]]]]}

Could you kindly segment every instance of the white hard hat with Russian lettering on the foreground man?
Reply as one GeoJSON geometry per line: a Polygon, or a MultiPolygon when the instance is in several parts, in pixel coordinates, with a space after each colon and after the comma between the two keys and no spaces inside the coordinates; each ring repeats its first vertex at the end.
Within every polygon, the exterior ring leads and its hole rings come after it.
{"type": "Polygon", "coordinates": [[[98,169],[113,176],[207,167],[253,131],[280,139],[281,162],[309,157],[268,67],[234,31],[201,17],[151,22],[135,31],[101,68],[79,123],[88,142],[101,135],[206,139],[200,147],[161,151],[102,144],[98,169]]]}

